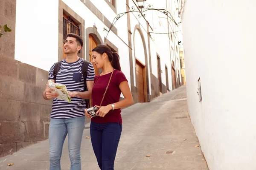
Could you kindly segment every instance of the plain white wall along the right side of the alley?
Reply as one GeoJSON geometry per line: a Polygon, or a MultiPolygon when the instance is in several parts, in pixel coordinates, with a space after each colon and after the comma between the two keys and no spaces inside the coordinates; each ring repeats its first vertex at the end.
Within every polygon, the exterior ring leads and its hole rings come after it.
{"type": "Polygon", "coordinates": [[[253,0],[185,2],[188,109],[210,170],[256,168],[255,7],[253,0]]]}

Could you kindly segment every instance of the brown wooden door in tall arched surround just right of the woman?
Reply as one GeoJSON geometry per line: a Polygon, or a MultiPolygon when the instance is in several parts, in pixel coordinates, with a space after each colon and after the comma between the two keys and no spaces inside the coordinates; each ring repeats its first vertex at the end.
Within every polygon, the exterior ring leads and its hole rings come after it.
{"type": "Polygon", "coordinates": [[[144,66],[140,62],[136,61],[136,86],[138,94],[138,102],[145,102],[145,74],[143,70],[144,66]]]}

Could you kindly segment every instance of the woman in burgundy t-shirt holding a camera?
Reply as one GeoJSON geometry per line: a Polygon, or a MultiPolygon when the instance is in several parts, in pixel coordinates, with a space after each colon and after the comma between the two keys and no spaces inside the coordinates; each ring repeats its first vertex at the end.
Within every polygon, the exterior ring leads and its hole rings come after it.
{"type": "Polygon", "coordinates": [[[87,113],[87,109],[85,115],[92,118],[90,135],[99,168],[113,170],[122,132],[120,108],[131,105],[133,98],[128,81],[121,71],[119,55],[106,45],[98,45],[93,49],[92,57],[93,64],[102,68],[102,73],[94,78],[92,89],[92,105],[99,109],[95,117],[87,113]],[[121,93],[125,99],[119,101],[121,93]]]}

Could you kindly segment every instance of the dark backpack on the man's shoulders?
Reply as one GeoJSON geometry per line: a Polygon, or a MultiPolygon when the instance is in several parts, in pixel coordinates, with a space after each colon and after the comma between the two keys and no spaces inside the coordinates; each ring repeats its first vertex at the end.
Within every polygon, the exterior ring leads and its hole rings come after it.
{"type": "MultiPolygon", "coordinates": [[[[61,61],[59,62],[56,62],[55,65],[54,65],[54,70],[53,70],[53,77],[54,77],[54,81],[56,82],[56,76],[57,76],[57,73],[61,67],[61,61]]],[[[87,91],[87,85],[86,85],[86,78],[87,78],[87,70],[88,70],[88,65],[90,64],[90,62],[84,60],[83,63],[82,63],[82,74],[83,74],[83,77],[84,77],[84,91],[87,91]]],[[[86,103],[86,107],[88,107],[89,105],[89,100],[90,99],[85,99],[85,103],[86,103]]]]}

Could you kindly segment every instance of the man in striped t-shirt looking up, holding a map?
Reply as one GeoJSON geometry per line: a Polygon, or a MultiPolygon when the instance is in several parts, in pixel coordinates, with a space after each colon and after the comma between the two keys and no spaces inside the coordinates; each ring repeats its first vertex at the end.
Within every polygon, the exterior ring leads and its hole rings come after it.
{"type": "Polygon", "coordinates": [[[54,77],[54,65],[49,70],[48,79],[67,86],[70,91],[71,103],[55,99],[58,94],[51,93],[53,89],[46,87],[43,97],[53,98],[51,122],[49,125],[50,170],[61,170],[61,154],[64,140],[68,134],[68,149],[71,170],[81,170],[81,140],[84,131],[84,109],[87,108],[84,99],[90,99],[95,72],[89,63],[87,77],[82,74],[84,59],[77,56],[83,46],[83,40],[76,34],[67,34],[64,53],[67,58],[61,61],[60,68],[54,77]],[[87,91],[84,91],[86,81],[87,91]]]}

